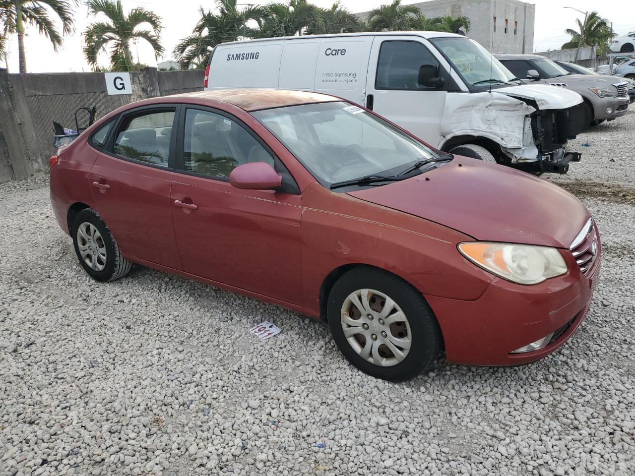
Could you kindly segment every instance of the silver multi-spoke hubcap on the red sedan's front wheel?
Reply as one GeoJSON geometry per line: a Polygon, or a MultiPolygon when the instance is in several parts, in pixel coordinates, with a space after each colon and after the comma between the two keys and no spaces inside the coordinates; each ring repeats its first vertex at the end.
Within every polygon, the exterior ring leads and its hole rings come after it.
{"type": "Polygon", "coordinates": [[[374,289],[354,291],[344,300],[341,317],[349,345],[368,362],[391,367],[410,352],[408,318],[386,294],[374,289]]]}

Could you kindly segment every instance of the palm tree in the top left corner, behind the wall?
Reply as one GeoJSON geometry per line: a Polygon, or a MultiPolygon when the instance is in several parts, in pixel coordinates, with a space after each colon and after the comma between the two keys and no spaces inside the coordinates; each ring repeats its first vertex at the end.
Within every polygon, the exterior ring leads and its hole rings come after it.
{"type": "Polygon", "coordinates": [[[62,46],[62,36],[73,31],[73,4],[69,0],[0,0],[0,20],[4,23],[3,49],[6,57],[6,38],[18,34],[18,60],[20,73],[27,72],[27,56],[24,51],[25,24],[37,27],[39,34],[46,36],[53,44],[53,50],[62,46]],[[62,33],[58,31],[51,13],[62,21],[62,33]]]}

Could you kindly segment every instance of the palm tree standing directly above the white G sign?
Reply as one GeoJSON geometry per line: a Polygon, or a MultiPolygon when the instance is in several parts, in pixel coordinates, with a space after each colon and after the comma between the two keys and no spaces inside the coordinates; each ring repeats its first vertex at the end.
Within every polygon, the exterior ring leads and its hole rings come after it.
{"type": "Polygon", "coordinates": [[[155,58],[163,54],[159,41],[161,18],[156,13],[139,7],[126,15],[121,0],[88,0],[88,12],[93,16],[102,13],[109,20],[91,23],[84,34],[84,56],[93,69],[98,69],[98,53],[110,48],[110,70],[131,71],[134,64],[130,44],[136,39],[150,43],[155,58]],[[150,25],[152,31],[143,29],[144,23],[150,25]]]}

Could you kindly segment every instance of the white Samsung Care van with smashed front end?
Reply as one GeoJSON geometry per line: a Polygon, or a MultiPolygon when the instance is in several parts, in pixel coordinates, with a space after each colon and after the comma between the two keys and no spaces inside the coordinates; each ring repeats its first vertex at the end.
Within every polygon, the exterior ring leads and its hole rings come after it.
{"type": "MultiPolygon", "coordinates": [[[[485,48],[440,32],[268,38],[214,48],[205,89],[300,89],[364,105],[425,142],[540,175],[566,173],[582,97],[520,84],[485,48]]],[[[363,138],[361,138],[363,140],[363,138]]]]}

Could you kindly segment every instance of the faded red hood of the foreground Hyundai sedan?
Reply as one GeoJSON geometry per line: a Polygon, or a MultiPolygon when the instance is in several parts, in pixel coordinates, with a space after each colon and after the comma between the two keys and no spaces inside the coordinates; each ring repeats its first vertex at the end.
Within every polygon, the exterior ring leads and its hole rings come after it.
{"type": "Polygon", "coordinates": [[[458,155],[432,171],[349,195],[481,241],[557,248],[568,248],[591,216],[576,197],[557,185],[458,155]]]}

